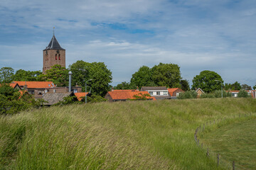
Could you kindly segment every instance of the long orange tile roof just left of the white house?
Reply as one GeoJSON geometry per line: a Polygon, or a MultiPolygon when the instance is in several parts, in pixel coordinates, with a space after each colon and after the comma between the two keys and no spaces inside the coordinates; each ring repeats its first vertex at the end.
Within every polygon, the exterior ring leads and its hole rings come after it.
{"type": "MultiPolygon", "coordinates": [[[[134,95],[142,96],[143,94],[149,94],[148,91],[109,91],[108,92],[113,100],[126,100],[126,99],[136,99],[134,95]]],[[[156,98],[147,96],[146,98],[153,100],[156,98]]]]}

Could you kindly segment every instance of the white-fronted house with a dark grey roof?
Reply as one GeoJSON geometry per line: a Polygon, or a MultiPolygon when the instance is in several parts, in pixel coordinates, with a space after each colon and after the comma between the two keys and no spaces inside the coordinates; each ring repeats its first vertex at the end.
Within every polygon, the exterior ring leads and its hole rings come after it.
{"type": "Polygon", "coordinates": [[[170,99],[168,89],[165,86],[142,86],[141,91],[148,91],[156,100],[170,99]]]}

